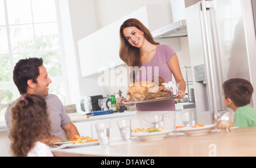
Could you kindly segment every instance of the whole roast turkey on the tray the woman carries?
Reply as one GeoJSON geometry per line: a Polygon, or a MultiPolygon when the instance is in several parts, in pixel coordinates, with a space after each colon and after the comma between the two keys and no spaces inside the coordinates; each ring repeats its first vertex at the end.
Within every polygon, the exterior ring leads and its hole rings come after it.
{"type": "Polygon", "coordinates": [[[153,99],[156,97],[163,97],[171,94],[170,90],[164,90],[164,79],[157,77],[150,81],[139,81],[133,83],[126,92],[126,101],[134,102],[139,100],[153,99]]]}

